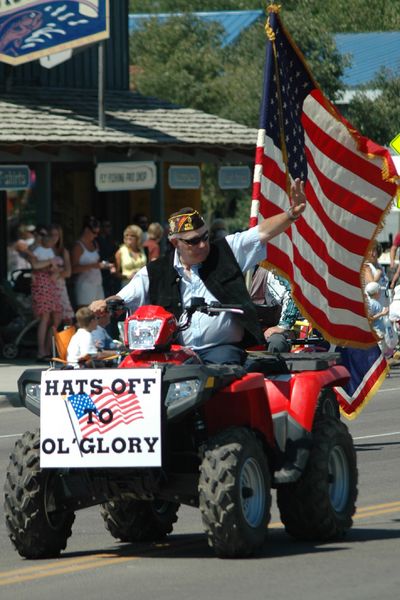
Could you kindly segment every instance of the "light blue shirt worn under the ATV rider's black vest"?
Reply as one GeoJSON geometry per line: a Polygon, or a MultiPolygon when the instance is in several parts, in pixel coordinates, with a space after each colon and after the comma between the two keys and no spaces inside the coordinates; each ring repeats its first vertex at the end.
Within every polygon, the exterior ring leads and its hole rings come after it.
{"type": "MultiPolygon", "coordinates": [[[[258,226],[247,231],[228,235],[225,239],[243,272],[248,271],[266,257],[266,247],[265,244],[260,242],[258,226]]],[[[217,300],[199,277],[200,267],[201,264],[192,265],[190,276],[186,274],[179,254],[175,250],[174,268],[181,277],[180,293],[183,307],[190,306],[191,299],[195,296],[204,298],[207,304],[217,300]]],[[[149,275],[147,268],[140,269],[135,277],[118,292],[118,296],[124,300],[131,311],[148,304],[149,275]]],[[[195,312],[189,329],[180,334],[181,339],[179,342],[199,350],[220,344],[240,342],[243,333],[243,327],[229,313],[209,317],[203,313],[195,312]]]]}

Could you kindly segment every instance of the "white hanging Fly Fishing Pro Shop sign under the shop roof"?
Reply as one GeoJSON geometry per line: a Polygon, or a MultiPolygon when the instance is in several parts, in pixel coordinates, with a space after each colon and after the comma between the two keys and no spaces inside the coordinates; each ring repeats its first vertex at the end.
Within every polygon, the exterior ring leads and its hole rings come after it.
{"type": "Polygon", "coordinates": [[[151,190],[157,183],[156,163],[152,161],[99,163],[95,176],[99,192],[151,190]]]}

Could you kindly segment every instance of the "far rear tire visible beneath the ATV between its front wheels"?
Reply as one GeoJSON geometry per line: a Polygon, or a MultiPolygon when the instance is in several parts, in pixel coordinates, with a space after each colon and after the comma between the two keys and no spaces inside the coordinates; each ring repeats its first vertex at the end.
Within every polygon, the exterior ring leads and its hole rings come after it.
{"type": "Polygon", "coordinates": [[[155,542],[171,533],[179,504],[164,500],[115,500],[102,504],[106,529],[122,542],[155,542]]]}

